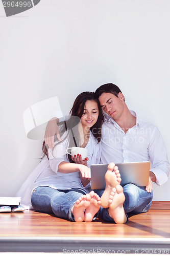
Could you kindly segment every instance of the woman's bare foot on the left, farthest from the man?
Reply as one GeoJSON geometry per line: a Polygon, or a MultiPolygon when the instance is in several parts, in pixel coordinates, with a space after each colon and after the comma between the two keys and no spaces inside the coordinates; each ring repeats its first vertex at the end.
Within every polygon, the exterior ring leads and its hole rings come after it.
{"type": "MultiPolygon", "coordinates": [[[[92,191],[94,193],[94,191],[92,191]]],[[[84,211],[90,205],[91,196],[89,194],[82,195],[72,206],[72,215],[76,222],[84,221],[84,211]]]]}

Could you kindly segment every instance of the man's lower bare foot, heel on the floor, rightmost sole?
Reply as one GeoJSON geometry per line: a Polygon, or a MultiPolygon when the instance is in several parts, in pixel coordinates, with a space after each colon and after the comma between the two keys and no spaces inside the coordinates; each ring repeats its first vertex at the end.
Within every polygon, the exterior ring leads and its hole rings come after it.
{"type": "Polygon", "coordinates": [[[116,185],[113,187],[110,199],[109,199],[109,215],[113,218],[115,223],[123,224],[127,221],[127,216],[124,210],[125,195],[123,192],[123,187],[121,185],[116,185]]]}

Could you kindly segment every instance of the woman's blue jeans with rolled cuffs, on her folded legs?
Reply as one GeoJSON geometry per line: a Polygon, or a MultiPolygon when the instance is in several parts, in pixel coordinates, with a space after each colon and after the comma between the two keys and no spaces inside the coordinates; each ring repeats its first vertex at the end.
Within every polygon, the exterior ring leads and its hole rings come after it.
{"type": "Polygon", "coordinates": [[[63,190],[39,186],[33,190],[31,203],[36,211],[55,214],[58,218],[74,221],[71,208],[77,199],[85,194],[87,194],[86,191],[81,188],[63,190]]]}

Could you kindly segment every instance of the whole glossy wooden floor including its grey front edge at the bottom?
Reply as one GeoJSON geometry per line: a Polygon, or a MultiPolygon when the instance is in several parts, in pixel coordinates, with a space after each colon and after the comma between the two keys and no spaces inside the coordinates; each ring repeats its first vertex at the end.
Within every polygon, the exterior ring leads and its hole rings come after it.
{"type": "Polygon", "coordinates": [[[63,249],[99,247],[103,250],[143,249],[143,253],[145,248],[167,249],[170,254],[169,203],[153,202],[148,212],[132,216],[127,224],[121,225],[100,219],[75,223],[32,210],[2,213],[0,251],[62,252],[63,249]]]}

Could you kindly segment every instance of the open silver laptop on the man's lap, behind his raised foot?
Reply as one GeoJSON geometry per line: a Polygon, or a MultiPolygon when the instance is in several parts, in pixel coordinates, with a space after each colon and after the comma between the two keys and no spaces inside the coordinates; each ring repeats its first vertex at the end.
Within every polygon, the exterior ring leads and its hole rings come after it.
{"type": "MultiPolygon", "coordinates": [[[[122,186],[133,183],[137,186],[148,186],[150,162],[116,163],[118,166],[122,186]]],[[[91,189],[105,189],[105,174],[108,164],[91,165],[91,189]]]]}

